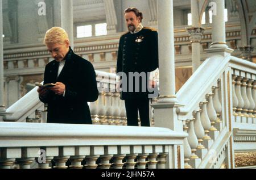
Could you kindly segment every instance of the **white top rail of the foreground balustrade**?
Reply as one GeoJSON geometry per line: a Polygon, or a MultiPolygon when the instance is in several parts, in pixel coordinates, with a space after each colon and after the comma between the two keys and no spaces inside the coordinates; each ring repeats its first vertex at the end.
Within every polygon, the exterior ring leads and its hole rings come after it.
{"type": "Polygon", "coordinates": [[[174,132],[168,128],[153,127],[115,127],[111,125],[81,125],[81,124],[42,124],[42,123],[0,123],[1,147],[37,146],[35,139],[40,139],[40,145],[127,145],[134,144],[164,144],[174,139],[183,140],[185,132],[174,132]],[[46,139],[51,139],[46,140],[46,139]],[[61,139],[61,141],[60,141],[61,139]],[[123,141],[122,141],[123,139],[123,141]],[[105,140],[105,141],[102,141],[105,140]],[[108,141],[106,141],[108,140],[108,141]],[[13,143],[10,143],[12,141],[13,143]],[[14,141],[22,141],[16,144],[14,141]],[[137,143],[136,143],[137,142],[137,143]]]}

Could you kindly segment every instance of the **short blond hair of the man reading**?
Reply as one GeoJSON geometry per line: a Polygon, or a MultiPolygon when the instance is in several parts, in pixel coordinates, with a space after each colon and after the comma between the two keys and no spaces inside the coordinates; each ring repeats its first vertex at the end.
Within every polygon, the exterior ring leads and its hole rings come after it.
{"type": "Polygon", "coordinates": [[[64,44],[69,40],[67,32],[61,27],[52,27],[46,32],[44,44],[64,44]]]}

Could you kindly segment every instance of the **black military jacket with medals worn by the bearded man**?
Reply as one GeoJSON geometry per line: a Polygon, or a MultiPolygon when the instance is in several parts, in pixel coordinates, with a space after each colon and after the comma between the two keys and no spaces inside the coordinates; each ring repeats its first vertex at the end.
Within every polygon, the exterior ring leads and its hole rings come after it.
{"type": "MultiPolygon", "coordinates": [[[[129,72],[139,74],[144,72],[148,75],[158,68],[158,32],[152,28],[144,27],[141,31],[131,34],[127,32],[122,35],[119,40],[118,48],[118,58],[117,58],[117,73],[123,72],[127,76],[127,91],[129,90],[129,72]]],[[[148,81],[149,77],[146,76],[147,84],[143,84],[144,92],[142,88],[142,81],[140,79],[139,91],[135,92],[135,83],[133,79],[133,92],[125,92],[124,86],[125,82],[122,82],[121,99],[131,99],[131,98],[148,98],[148,81]]],[[[156,95],[156,97],[158,94],[156,95]]]]}

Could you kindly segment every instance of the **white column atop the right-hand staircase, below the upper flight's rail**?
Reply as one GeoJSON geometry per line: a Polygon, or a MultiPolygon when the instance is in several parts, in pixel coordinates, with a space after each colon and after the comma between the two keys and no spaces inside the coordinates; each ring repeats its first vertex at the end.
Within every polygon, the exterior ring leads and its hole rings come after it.
{"type": "Polygon", "coordinates": [[[212,0],[215,3],[216,14],[212,16],[212,45],[210,48],[228,48],[226,45],[226,27],[225,27],[225,1],[212,0]]]}

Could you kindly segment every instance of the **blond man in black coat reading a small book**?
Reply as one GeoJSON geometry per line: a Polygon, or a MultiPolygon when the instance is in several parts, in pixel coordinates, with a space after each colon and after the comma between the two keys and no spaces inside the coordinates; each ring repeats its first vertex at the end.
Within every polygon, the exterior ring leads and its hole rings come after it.
{"type": "Polygon", "coordinates": [[[63,28],[48,30],[44,44],[54,58],[46,65],[44,84],[56,85],[38,88],[40,101],[48,104],[47,123],[92,124],[88,102],[98,98],[93,65],[73,52],[63,28]]]}

